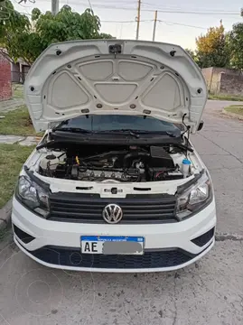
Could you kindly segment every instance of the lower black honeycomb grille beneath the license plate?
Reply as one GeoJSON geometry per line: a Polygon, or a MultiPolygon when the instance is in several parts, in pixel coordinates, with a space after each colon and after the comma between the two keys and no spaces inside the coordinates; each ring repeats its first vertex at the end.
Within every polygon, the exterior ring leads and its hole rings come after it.
{"type": "Polygon", "coordinates": [[[149,250],[144,255],[91,255],[81,254],[79,248],[44,246],[29,253],[51,265],[107,269],[172,267],[189,262],[197,256],[179,248],[149,250]]]}

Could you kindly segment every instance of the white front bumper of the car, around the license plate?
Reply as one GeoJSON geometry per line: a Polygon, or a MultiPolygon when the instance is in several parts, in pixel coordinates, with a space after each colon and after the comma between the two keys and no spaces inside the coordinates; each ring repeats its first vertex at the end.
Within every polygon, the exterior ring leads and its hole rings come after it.
{"type": "Polygon", "coordinates": [[[159,272],[172,271],[194,263],[205,255],[214,245],[214,237],[205,246],[195,246],[191,239],[207,232],[216,224],[215,202],[199,212],[194,218],[188,218],[177,224],[152,224],[152,225],[100,225],[100,224],[77,224],[68,222],[55,222],[42,219],[25,209],[17,200],[13,202],[12,221],[18,228],[24,229],[28,234],[35,237],[31,243],[24,244],[19,238],[14,237],[15,243],[23,252],[42,265],[54,268],[93,271],[93,272],[159,272]],[[164,268],[132,268],[132,269],[100,269],[77,266],[63,266],[46,264],[36,259],[31,252],[42,246],[65,246],[79,247],[80,236],[142,236],[145,237],[145,249],[158,249],[158,247],[179,247],[192,254],[200,254],[185,265],[164,268]]]}

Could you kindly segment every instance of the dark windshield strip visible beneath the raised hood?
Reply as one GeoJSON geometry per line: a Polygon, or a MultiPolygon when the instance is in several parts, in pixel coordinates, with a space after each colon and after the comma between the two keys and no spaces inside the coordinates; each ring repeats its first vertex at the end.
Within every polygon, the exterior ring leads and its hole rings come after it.
{"type": "Polygon", "coordinates": [[[180,135],[179,127],[150,116],[93,115],[79,116],[64,121],[55,129],[82,129],[88,132],[105,132],[112,130],[134,130],[145,132],[168,132],[180,135]]]}

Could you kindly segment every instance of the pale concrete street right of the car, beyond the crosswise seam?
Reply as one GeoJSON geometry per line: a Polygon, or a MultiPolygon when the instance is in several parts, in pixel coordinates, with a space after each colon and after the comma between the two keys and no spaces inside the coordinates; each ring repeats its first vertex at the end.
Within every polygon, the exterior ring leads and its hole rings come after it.
{"type": "Polygon", "coordinates": [[[218,232],[243,236],[243,121],[221,117],[227,105],[231,103],[208,102],[205,125],[192,142],[213,179],[218,232]]]}

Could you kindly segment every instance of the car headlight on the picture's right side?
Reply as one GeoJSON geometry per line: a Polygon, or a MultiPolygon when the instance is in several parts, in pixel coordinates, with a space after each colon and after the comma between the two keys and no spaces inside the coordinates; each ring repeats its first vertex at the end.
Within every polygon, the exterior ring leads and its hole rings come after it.
{"type": "Polygon", "coordinates": [[[206,173],[201,179],[185,190],[177,200],[177,217],[182,220],[200,209],[205,208],[212,200],[211,182],[206,173]]]}

